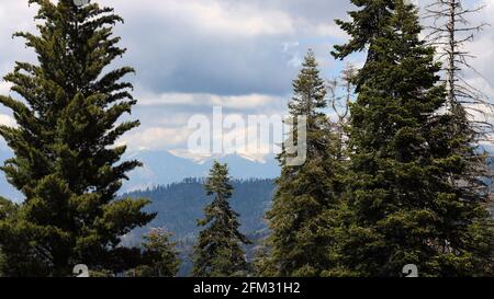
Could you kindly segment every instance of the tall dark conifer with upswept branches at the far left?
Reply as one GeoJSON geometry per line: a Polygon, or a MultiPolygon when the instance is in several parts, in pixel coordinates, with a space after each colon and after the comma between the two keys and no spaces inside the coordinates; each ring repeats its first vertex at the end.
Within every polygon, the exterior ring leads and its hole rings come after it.
{"type": "Polygon", "coordinates": [[[134,70],[104,72],[125,49],[113,26],[123,20],[97,3],[30,0],[40,7],[38,35],[16,33],[37,64],[16,62],[5,76],[22,96],[0,96],[19,127],[0,127],[14,152],[2,170],[24,202],[0,221],[9,276],[68,276],[76,264],[119,273],[139,263],[138,250],[120,246],[121,235],[149,222],[146,199],[116,199],[126,173],[138,161],[119,164],[125,147],[114,146],[138,122],[117,123],[136,103],[134,70]]]}

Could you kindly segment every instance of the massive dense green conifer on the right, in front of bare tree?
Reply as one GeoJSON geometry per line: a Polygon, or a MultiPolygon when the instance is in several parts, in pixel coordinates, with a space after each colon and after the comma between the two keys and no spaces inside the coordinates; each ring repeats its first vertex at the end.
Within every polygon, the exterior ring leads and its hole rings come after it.
{"type": "MultiPolygon", "coordinates": [[[[352,2],[362,11],[384,5],[352,2]]],[[[441,66],[418,37],[416,8],[393,2],[379,36],[355,34],[363,24],[360,13],[350,13],[351,31],[344,26],[349,44],[364,41],[372,59],[357,76],[351,107],[352,177],[343,205],[348,220],[338,244],[340,274],[400,276],[406,264],[416,264],[422,276],[492,274],[485,198],[459,193],[450,180],[467,162],[449,138],[454,118],[440,113],[447,102],[438,84],[441,66]]]]}

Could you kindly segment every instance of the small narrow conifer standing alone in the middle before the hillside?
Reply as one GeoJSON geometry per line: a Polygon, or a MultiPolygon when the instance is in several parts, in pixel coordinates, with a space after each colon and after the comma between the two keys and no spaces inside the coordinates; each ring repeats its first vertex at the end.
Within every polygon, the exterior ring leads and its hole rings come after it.
{"type": "Polygon", "coordinates": [[[205,218],[199,221],[204,230],[194,246],[195,277],[246,276],[249,271],[242,244],[250,242],[238,231],[239,215],[229,206],[229,181],[227,165],[214,162],[204,185],[207,196],[214,198],[204,209],[205,218]]]}

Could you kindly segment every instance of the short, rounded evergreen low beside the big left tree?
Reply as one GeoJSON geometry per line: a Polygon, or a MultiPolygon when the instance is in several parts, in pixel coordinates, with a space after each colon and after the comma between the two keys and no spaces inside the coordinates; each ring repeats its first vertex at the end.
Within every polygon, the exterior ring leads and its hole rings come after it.
{"type": "Polygon", "coordinates": [[[137,277],[175,277],[180,267],[176,243],[171,234],[162,229],[153,229],[144,235],[143,263],[135,269],[137,277]]]}

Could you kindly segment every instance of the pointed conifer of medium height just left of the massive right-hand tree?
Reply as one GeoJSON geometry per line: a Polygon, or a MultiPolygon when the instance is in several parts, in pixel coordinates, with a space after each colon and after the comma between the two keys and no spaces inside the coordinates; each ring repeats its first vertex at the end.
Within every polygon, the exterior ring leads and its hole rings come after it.
{"type": "MultiPolygon", "coordinates": [[[[271,253],[263,263],[271,265],[263,266],[266,276],[318,276],[330,266],[330,235],[326,234],[328,221],[323,215],[338,205],[343,189],[337,137],[323,111],[327,106],[326,85],[312,50],[293,81],[293,90],[290,116],[294,120],[306,117],[306,160],[301,165],[289,164],[291,153],[285,149],[278,157],[282,173],[267,214],[272,234],[268,240],[271,253]]],[[[299,134],[295,126],[291,136],[299,134]]]]}

